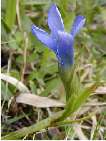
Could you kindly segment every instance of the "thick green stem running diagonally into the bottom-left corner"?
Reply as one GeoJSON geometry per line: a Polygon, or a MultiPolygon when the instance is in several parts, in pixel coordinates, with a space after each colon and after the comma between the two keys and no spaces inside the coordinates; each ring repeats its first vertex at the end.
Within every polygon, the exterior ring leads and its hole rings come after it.
{"type": "Polygon", "coordinates": [[[36,124],[33,124],[29,127],[24,127],[22,129],[19,129],[15,132],[11,132],[9,133],[8,135],[6,136],[3,136],[1,139],[2,140],[16,140],[16,139],[21,139],[22,137],[28,135],[28,134],[32,134],[36,131],[40,131],[44,128],[47,128],[47,127],[50,127],[51,124],[56,121],[58,118],[61,117],[61,115],[63,114],[64,110],[63,111],[60,111],[60,112],[57,112],[55,114],[53,114],[52,116],[36,123],[36,124]]]}

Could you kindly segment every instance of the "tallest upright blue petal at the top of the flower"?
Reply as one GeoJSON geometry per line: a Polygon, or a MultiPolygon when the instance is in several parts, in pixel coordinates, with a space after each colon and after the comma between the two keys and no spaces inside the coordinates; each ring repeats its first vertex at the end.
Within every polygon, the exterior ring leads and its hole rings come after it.
{"type": "Polygon", "coordinates": [[[61,18],[61,14],[55,4],[51,6],[48,12],[48,25],[53,34],[56,34],[56,31],[58,30],[64,30],[64,24],[61,18]]]}

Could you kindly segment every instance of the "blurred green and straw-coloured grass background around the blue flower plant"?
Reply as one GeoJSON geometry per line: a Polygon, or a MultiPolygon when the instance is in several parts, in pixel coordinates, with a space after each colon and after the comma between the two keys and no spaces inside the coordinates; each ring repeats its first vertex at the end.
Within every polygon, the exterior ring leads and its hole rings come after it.
{"type": "MultiPolygon", "coordinates": [[[[106,1],[105,0],[2,0],[2,73],[16,78],[34,95],[65,101],[55,55],[31,33],[34,23],[49,32],[47,11],[56,3],[66,31],[70,31],[75,15],[86,17],[86,25],[75,41],[75,60],[80,81],[94,85],[94,93],[77,118],[78,123],[58,125],[39,132],[32,131],[21,139],[106,139],[106,1]],[[99,89],[98,89],[99,88],[99,89]]],[[[17,104],[17,87],[2,81],[2,136],[61,111],[63,108],[36,108],[17,104]]],[[[20,137],[19,137],[20,139],[20,137]]]]}

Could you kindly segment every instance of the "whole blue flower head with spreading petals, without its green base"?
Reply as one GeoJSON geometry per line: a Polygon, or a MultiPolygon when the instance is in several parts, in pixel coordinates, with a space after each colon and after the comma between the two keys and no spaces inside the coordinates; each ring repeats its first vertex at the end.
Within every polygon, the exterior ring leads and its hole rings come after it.
{"type": "Polygon", "coordinates": [[[74,37],[83,27],[85,18],[77,16],[72,25],[70,33],[64,31],[64,24],[61,14],[53,4],[48,12],[48,26],[51,33],[32,25],[32,33],[57,56],[60,67],[67,68],[74,63],[74,37]]]}

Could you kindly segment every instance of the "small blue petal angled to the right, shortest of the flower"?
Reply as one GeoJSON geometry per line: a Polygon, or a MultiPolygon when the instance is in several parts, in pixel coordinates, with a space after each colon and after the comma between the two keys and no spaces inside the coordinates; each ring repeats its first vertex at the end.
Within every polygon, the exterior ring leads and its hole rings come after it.
{"type": "Polygon", "coordinates": [[[80,15],[77,16],[72,25],[71,35],[73,35],[74,37],[80,31],[80,29],[84,26],[84,24],[85,24],[85,18],[80,15]]]}

